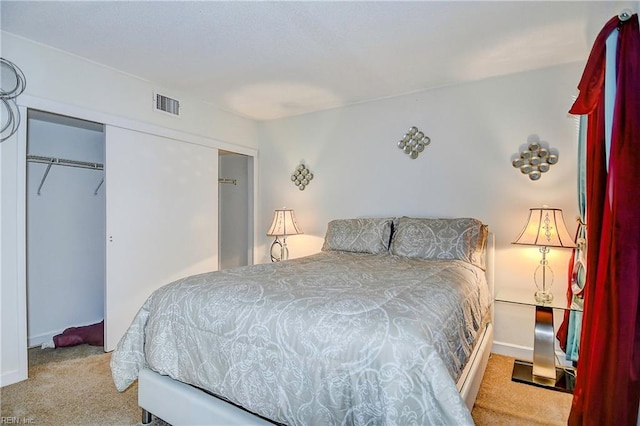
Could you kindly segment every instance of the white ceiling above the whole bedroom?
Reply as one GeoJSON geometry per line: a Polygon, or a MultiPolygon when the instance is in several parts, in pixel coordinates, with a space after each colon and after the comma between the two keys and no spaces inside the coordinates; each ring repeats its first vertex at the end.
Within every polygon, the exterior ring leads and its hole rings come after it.
{"type": "Polygon", "coordinates": [[[584,61],[624,9],[638,2],[0,3],[3,31],[256,120],[584,61]]]}

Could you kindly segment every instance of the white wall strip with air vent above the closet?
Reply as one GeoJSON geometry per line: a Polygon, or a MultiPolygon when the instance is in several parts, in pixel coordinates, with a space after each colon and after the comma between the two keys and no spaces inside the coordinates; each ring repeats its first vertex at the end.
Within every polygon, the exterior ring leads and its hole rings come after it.
{"type": "Polygon", "coordinates": [[[6,32],[2,32],[2,54],[24,72],[24,95],[257,148],[252,120],[183,93],[6,32]],[[154,90],[180,100],[180,118],[153,111],[154,90]]]}

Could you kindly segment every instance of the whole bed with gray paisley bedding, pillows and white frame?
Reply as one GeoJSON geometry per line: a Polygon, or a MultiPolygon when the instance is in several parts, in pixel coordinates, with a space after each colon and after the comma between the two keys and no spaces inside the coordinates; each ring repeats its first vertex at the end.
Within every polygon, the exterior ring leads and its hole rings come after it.
{"type": "Polygon", "coordinates": [[[492,245],[472,218],[331,221],[318,254],[155,291],[114,383],[138,380],[143,423],[473,424],[492,245]]]}

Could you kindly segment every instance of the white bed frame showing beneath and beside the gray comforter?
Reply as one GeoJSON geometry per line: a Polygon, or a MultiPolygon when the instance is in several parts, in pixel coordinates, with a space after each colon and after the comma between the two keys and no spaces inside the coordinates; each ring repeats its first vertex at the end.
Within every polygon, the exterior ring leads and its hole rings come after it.
{"type": "MultiPolygon", "coordinates": [[[[487,281],[492,297],[491,321],[480,335],[457,383],[458,391],[469,411],[473,409],[493,345],[494,251],[494,236],[490,233],[487,244],[487,281]]],[[[138,376],[138,405],[142,408],[143,424],[151,422],[153,413],[172,426],[273,425],[273,422],[237,405],[150,369],[143,369],[138,376]]]]}

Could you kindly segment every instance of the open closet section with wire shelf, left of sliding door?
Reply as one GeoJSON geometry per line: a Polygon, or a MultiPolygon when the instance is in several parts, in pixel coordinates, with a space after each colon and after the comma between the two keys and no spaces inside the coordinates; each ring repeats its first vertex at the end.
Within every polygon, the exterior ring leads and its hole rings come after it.
{"type": "Polygon", "coordinates": [[[104,126],[27,115],[27,343],[104,318],[104,126]]]}

